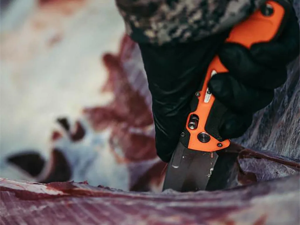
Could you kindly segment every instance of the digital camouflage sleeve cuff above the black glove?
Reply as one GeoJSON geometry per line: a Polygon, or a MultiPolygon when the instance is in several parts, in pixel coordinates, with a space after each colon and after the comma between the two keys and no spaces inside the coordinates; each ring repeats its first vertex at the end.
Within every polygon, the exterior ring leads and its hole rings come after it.
{"type": "Polygon", "coordinates": [[[196,41],[221,32],[266,0],[115,0],[126,33],[136,42],[196,41]]]}

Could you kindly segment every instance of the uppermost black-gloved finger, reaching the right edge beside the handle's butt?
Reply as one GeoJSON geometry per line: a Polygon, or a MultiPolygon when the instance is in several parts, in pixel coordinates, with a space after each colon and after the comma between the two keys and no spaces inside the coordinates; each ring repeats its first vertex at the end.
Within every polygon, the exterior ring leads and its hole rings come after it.
{"type": "Polygon", "coordinates": [[[250,52],[257,62],[274,68],[287,65],[299,55],[299,42],[299,24],[294,12],[276,41],[253,44],[250,52]]]}

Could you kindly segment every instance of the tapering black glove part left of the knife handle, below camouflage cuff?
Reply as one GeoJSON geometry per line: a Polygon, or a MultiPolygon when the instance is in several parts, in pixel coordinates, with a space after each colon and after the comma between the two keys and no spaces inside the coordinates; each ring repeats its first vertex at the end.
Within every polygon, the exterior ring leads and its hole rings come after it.
{"type": "Polygon", "coordinates": [[[205,40],[162,47],[139,44],[152,94],[157,155],[169,162],[178,144],[190,101],[228,32],[205,40]]]}

